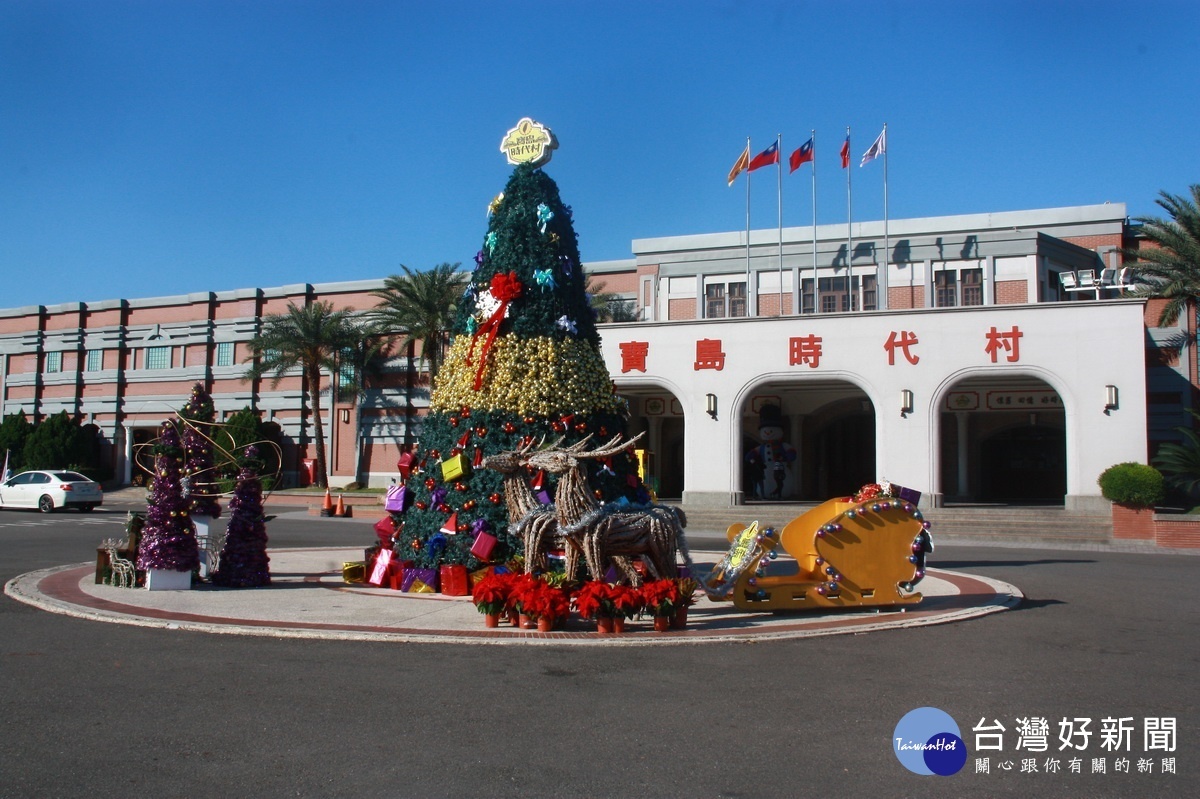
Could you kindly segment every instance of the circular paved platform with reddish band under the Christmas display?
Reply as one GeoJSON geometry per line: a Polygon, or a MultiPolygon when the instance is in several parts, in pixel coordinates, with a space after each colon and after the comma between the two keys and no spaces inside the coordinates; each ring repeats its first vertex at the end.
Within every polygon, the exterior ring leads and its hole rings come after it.
{"type": "MultiPolygon", "coordinates": [[[[694,553],[703,569],[718,553],[694,553]]],[[[620,635],[601,635],[571,618],[562,630],[510,626],[487,630],[469,597],[401,594],[342,582],[342,563],[361,549],[272,549],[271,585],[148,591],[95,584],[94,564],[58,566],[8,581],[5,593],[53,613],[95,621],[211,633],[470,644],[662,645],[804,638],[962,621],[1016,607],[1021,591],[988,577],[929,569],[924,600],[905,609],[742,613],[707,597],[690,608],[688,626],[654,632],[634,620],[620,635]]]]}

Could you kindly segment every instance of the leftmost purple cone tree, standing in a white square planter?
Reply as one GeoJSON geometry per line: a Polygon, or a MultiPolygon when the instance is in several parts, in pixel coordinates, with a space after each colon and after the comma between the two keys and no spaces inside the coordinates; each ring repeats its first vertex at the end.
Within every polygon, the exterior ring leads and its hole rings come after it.
{"type": "Polygon", "coordinates": [[[154,482],[146,498],[146,521],[138,546],[138,569],[192,571],[200,565],[196,529],[184,499],[180,469],[184,447],[170,421],[162,423],[154,446],[154,482]]]}

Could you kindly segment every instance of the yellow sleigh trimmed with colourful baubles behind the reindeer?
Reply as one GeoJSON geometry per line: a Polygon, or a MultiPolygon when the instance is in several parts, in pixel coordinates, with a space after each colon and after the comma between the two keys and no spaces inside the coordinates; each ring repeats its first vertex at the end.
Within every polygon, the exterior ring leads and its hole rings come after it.
{"type": "Polygon", "coordinates": [[[916,500],[902,495],[830,499],[781,531],[754,522],[733,524],[727,535],[730,552],[703,584],[709,599],[739,611],[913,605],[934,548],[916,500]],[[796,571],[776,560],[781,553],[794,558],[796,571]]]}

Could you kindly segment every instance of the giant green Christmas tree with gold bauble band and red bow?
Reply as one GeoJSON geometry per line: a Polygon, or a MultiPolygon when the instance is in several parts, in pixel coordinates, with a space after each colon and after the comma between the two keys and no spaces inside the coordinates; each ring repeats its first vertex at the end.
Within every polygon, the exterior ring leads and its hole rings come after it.
{"type": "MultiPolygon", "coordinates": [[[[625,403],[613,392],[584,292],[571,209],[539,167],[514,169],[492,203],[475,264],[407,482],[415,501],[396,551],[421,567],[480,567],[470,548],[481,529],[499,539],[488,561],[521,554],[522,542],[508,531],[502,475],[478,468],[485,456],[626,432],[625,403]]],[[[632,455],[589,468],[604,501],[648,499],[632,455]]],[[[550,475],[529,476],[552,494],[550,475]]]]}

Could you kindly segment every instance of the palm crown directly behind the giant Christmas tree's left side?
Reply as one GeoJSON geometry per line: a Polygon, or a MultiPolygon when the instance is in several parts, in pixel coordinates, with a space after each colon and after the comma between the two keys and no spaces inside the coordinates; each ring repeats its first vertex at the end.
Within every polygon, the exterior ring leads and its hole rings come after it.
{"type": "Polygon", "coordinates": [[[446,334],[467,287],[467,276],[458,266],[438,264],[415,272],[401,264],[403,275],[388,277],[384,288],[371,292],[379,299],[371,312],[372,326],[382,335],[402,334],[402,348],[420,342],[421,360],[428,364],[431,380],[437,377],[445,356],[446,334]]]}

